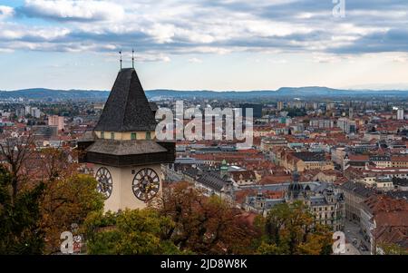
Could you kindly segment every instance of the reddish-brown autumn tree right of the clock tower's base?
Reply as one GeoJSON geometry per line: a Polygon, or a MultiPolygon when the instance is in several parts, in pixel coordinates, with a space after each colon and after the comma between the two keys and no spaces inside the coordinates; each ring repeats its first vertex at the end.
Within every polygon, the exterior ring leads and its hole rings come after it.
{"type": "Polygon", "coordinates": [[[204,197],[188,182],[179,182],[163,189],[163,195],[152,204],[174,225],[165,231],[181,250],[199,254],[244,254],[253,252],[251,242],[256,231],[239,218],[224,200],[204,197]]]}

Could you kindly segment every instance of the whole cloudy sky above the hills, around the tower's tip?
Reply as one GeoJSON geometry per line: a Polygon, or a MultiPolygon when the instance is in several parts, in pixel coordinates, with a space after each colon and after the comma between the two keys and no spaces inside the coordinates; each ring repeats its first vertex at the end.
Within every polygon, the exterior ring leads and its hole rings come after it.
{"type": "Polygon", "coordinates": [[[0,0],[0,90],[408,90],[407,0],[0,0]]]}

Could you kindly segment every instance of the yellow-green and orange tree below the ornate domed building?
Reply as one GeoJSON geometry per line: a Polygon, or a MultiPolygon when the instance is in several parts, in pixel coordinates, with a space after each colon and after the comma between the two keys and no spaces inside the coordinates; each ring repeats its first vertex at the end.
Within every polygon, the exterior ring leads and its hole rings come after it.
{"type": "Polygon", "coordinates": [[[332,233],[314,223],[313,216],[301,201],[278,204],[264,219],[260,254],[330,254],[332,233]]]}

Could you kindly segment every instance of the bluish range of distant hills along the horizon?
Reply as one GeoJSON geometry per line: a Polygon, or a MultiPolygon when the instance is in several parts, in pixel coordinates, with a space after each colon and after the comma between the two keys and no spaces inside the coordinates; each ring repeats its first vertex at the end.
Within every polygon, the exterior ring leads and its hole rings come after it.
{"type": "MultiPolygon", "coordinates": [[[[341,90],[320,86],[307,87],[282,87],[277,91],[225,91],[214,92],[208,90],[201,91],[178,91],[178,90],[148,90],[146,95],[150,99],[160,98],[208,98],[208,99],[257,99],[257,98],[277,98],[277,97],[342,97],[342,96],[375,96],[375,97],[408,97],[408,91],[399,90],[341,90]]],[[[106,100],[109,96],[107,91],[97,90],[53,90],[45,88],[32,88],[15,91],[0,91],[0,99],[32,99],[32,100],[106,100]]]]}

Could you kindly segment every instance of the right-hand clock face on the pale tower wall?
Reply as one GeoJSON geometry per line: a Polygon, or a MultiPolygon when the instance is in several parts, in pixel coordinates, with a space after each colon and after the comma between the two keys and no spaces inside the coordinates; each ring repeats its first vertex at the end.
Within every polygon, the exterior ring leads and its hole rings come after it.
{"type": "Polygon", "coordinates": [[[139,200],[144,202],[151,200],[160,189],[159,175],[150,168],[141,169],[134,176],[131,188],[134,196],[139,200]]]}

